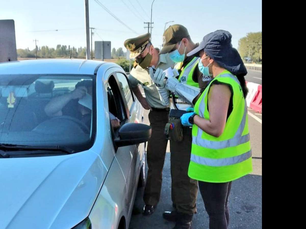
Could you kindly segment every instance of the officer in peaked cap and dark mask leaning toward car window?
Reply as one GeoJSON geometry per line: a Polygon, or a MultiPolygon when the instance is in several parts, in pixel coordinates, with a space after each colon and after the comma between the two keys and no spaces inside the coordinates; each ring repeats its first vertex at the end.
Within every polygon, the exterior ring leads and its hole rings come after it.
{"type": "MultiPolygon", "coordinates": [[[[150,34],[127,39],[124,46],[130,51],[130,58],[135,58],[135,64],[129,75],[129,82],[134,94],[141,105],[149,110],[149,121],[152,135],[147,146],[148,174],[144,189],[144,215],[154,212],[159,202],[162,186],[162,168],[164,166],[168,140],[164,134],[164,127],[169,120],[169,92],[160,90],[152,81],[149,71],[155,69],[165,70],[174,67],[168,54],[159,54],[150,42],[150,34]],[[138,85],[144,89],[142,96],[138,85]]],[[[161,71],[162,73],[162,71],[161,71]]],[[[157,74],[157,71],[156,71],[157,74]]]]}

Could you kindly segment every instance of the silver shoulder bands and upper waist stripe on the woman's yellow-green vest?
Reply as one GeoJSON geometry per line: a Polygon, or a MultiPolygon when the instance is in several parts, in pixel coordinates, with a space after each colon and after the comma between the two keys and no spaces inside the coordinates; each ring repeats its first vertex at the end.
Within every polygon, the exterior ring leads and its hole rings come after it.
{"type": "MultiPolygon", "coordinates": [[[[234,79],[237,83],[239,83],[238,79],[231,74],[224,74],[224,75],[220,75],[219,77],[230,77],[230,78],[234,79]]],[[[240,85],[240,83],[239,83],[239,85],[240,85]]],[[[202,101],[201,101],[201,104],[199,106],[199,113],[200,113],[200,117],[202,117],[202,118],[204,117],[204,111],[205,111],[205,107],[206,107],[204,98],[206,96],[207,91],[208,90],[205,90],[205,94],[202,97],[202,101]]],[[[210,149],[224,149],[224,148],[227,148],[227,147],[233,147],[233,146],[237,146],[237,145],[248,142],[250,140],[250,135],[246,134],[246,135],[242,136],[242,132],[244,130],[244,126],[245,126],[245,123],[246,123],[247,113],[248,113],[247,104],[246,104],[246,101],[244,100],[244,114],[243,114],[242,120],[240,122],[240,125],[239,125],[235,135],[233,136],[233,138],[228,139],[228,140],[224,140],[224,141],[210,141],[210,140],[202,139],[203,130],[200,127],[198,127],[197,135],[192,136],[192,143],[196,144],[196,145],[199,145],[199,146],[202,146],[202,147],[205,147],[205,148],[210,148],[210,149]]]]}

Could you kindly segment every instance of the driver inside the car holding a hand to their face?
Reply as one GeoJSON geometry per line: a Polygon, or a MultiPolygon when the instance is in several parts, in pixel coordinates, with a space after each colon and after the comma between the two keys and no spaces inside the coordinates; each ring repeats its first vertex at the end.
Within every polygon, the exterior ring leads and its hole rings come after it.
{"type": "MultiPolygon", "coordinates": [[[[89,128],[91,126],[92,81],[83,80],[75,89],[62,96],[53,98],[45,107],[49,117],[68,115],[79,119],[89,128]]],[[[120,127],[120,120],[109,112],[110,122],[114,129],[120,127]]]]}

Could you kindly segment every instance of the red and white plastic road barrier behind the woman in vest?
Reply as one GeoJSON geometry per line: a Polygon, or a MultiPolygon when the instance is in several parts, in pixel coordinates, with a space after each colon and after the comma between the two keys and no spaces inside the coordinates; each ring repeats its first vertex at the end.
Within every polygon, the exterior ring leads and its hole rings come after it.
{"type": "Polygon", "coordinates": [[[262,113],[262,85],[253,82],[246,82],[246,85],[249,90],[246,97],[247,106],[262,113]]]}

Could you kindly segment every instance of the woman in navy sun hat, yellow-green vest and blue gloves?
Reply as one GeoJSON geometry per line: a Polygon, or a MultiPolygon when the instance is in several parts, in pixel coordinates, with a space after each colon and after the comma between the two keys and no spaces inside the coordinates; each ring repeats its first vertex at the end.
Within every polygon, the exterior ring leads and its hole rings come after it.
{"type": "Polygon", "coordinates": [[[196,101],[194,111],[181,117],[192,125],[192,149],[188,176],[199,181],[210,229],[227,228],[231,184],[252,172],[252,151],[245,97],[246,68],[231,44],[228,31],[203,37],[199,69],[213,80],[196,101]]]}

